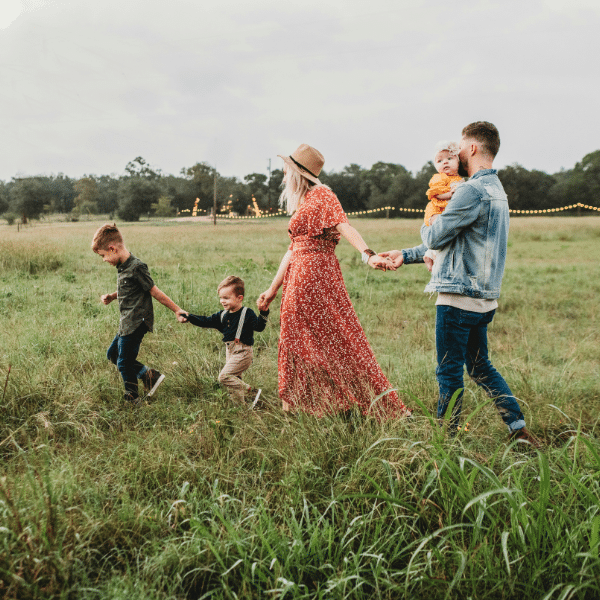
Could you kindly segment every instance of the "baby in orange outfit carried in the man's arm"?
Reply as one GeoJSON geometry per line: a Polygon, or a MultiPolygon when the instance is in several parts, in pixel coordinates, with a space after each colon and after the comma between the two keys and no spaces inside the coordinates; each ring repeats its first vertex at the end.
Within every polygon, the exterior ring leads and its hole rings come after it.
{"type": "MultiPolygon", "coordinates": [[[[425,207],[425,225],[431,225],[437,216],[444,212],[456,188],[463,181],[458,174],[458,144],[456,142],[438,142],[435,149],[433,164],[437,175],[434,175],[429,181],[427,190],[429,202],[425,207]]],[[[427,250],[423,260],[431,270],[435,260],[435,250],[427,250]]]]}

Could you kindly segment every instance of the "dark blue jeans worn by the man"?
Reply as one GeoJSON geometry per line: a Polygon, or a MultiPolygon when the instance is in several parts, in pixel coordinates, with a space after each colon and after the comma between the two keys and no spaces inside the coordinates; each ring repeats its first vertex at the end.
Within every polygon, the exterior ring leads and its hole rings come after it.
{"type": "Polygon", "coordinates": [[[446,414],[452,396],[460,389],[450,419],[450,431],[456,433],[460,422],[463,372],[466,364],[469,376],[494,399],[494,404],[508,429],[512,432],[525,427],[525,417],[517,399],[488,358],[487,326],[496,311],[475,313],[442,305],[436,306],[436,309],[436,375],[440,387],[438,418],[446,414]]]}

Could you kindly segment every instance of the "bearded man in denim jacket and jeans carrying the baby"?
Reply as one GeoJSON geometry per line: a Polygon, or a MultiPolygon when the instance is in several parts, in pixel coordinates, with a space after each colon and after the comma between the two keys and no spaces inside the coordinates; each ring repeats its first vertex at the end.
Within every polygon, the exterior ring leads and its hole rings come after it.
{"type": "Polygon", "coordinates": [[[436,302],[436,376],[438,418],[460,390],[450,419],[456,435],[460,421],[464,365],[471,378],[494,399],[510,432],[510,441],[539,447],[525,428],[525,418],[506,381],[488,358],[487,326],[492,321],[504,274],[508,239],[508,201],[492,163],[500,148],[494,125],[478,121],[462,131],[459,146],[460,185],[445,211],[421,228],[423,244],[383,252],[395,267],[423,262],[427,248],[437,251],[425,292],[438,292],[436,302]]]}

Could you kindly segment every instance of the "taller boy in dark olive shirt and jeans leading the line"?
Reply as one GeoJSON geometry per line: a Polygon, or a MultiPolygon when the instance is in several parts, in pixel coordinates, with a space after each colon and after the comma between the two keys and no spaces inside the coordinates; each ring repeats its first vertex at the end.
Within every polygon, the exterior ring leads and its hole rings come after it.
{"type": "Polygon", "coordinates": [[[121,312],[119,331],[106,356],[121,373],[125,400],[137,405],[140,402],[138,379],[142,380],[147,396],[152,396],[165,378],[159,371],[149,369],[137,360],[142,339],[154,326],[152,298],[170,308],[181,323],[185,322],[183,311],[156,287],[148,266],[127,250],[115,224],[106,223],[96,231],[92,250],[104,262],[117,267],[117,291],[100,297],[104,304],[118,299],[121,312]]]}

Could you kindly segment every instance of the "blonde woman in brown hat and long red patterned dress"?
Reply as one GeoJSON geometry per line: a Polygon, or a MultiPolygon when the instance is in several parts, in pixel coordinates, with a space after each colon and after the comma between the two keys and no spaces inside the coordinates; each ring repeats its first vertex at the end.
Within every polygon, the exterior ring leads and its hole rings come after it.
{"type": "Polygon", "coordinates": [[[258,299],[266,310],[283,284],[279,338],[279,396],[284,410],[322,416],[358,405],[379,418],[409,415],[390,391],[360,326],[342,278],[335,247],[344,236],[374,269],[394,270],[367,247],[336,195],[318,179],[323,155],[302,144],[284,160],[282,204],[292,218],[292,240],[268,290],[258,299]]]}

